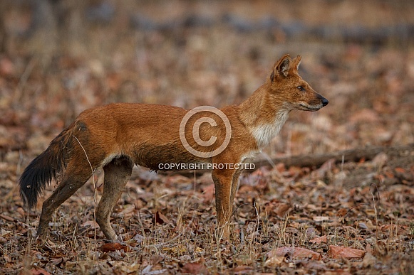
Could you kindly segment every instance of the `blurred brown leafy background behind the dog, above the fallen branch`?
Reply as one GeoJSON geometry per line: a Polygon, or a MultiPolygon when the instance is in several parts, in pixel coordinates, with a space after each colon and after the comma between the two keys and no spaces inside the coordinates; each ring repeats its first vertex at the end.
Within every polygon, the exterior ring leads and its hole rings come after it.
{"type": "Polygon", "coordinates": [[[238,104],[284,53],[329,104],[292,112],[269,156],[414,142],[413,1],[2,0],[0,16],[1,161],[101,104],[238,104]]]}

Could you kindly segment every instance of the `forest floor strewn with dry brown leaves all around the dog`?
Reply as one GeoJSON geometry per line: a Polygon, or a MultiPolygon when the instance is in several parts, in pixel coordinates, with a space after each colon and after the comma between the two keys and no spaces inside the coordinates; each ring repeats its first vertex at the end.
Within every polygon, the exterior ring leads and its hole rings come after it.
{"type": "Polygon", "coordinates": [[[24,4],[2,9],[0,274],[414,274],[414,43],[400,33],[412,5],[70,2],[33,29],[24,4]],[[84,109],[238,104],[284,53],[303,56],[299,74],[329,104],[292,112],[256,160],[384,150],[243,173],[230,242],[216,230],[211,173],[138,167],[111,216],[123,243],[106,242],[94,220],[101,169],[58,208],[46,242],[34,238],[56,183],[29,211],[19,176],[84,109]]]}

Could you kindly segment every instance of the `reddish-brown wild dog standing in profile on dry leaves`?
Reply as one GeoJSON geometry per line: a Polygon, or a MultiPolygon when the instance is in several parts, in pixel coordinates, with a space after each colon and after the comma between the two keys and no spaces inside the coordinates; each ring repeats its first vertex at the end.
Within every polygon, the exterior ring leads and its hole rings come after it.
{"type": "MultiPolygon", "coordinates": [[[[284,55],[276,61],[266,82],[242,104],[221,109],[231,125],[227,147],[216,156],[195,156],[180,140],[180,123],[188,110],[158,104],[108,104],[87,109],[48,148],[33,159],[20,178],[21,197],[29,207],[53,178],[60,182],[44,201],[37,235],[47,231],[56,208],[103,167],[103,194],[96,221],[105,237],[118,238],[110,225],[110,213],[120,198],[134,165],[160,170],[160,163],[243,163],[269,144],[294,109],[317,111],[328,100],[316,93],[298,75],[301,55],[284,55]]],[[[198,112],[185,125],[184,136],[192,148],[211,152],[224,142],[226,128],[213,112],[198,112]],[[208,123],[200,118],[207,117],[208,123]],[[212,119],[216,124],[212,124],[212,119]],[[214,137],[214,144],[200,145],[214,137]]],[[[162,170],[162,169],[161,169],[162,170]]],[[[215,203],[219,227],[229,237],[228,222],[241,168],[213,169],[215,203]]]]}

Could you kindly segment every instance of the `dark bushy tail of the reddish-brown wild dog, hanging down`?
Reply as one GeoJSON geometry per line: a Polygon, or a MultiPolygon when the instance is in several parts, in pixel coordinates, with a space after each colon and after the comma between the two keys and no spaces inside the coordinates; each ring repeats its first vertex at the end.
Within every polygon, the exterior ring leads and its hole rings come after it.
{"type": "Polygon", "coordinates": [[[21,174],[20,195],[29,208],[36,206],[38,196],[46,185],[66,168],[71,155],[74,124],[56,136],[48,149],[34,158],[21,174]]]}

